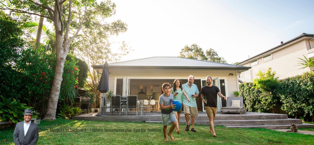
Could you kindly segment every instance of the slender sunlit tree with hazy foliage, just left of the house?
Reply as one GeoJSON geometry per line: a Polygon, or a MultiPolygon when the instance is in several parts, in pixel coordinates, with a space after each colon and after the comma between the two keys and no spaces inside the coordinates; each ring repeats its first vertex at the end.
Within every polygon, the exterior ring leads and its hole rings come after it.
{"type": "Polygon", "coordinates": [[[119,52],[112,52],[110,49],[111,43],[107,39],[108,37],[102,35],[102,33],[96,30],[86,30],[82,35],[78,36],[78,42],[73,45],[73,53],[88,63],[87,88],[94,92],[98,96],[98,99],[100,99],[100,92],[97,90],[97,86],[101,74],[92,69],[91,66],[104,64],[105,61],[109,63],[119,61],[122,56],[132,51],[127,44],[122,42],[119,52]]]}

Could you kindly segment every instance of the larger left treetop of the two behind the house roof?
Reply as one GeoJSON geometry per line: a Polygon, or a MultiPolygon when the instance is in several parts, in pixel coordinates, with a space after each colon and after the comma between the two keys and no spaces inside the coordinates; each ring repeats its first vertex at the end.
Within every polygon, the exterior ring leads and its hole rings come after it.
{"type": "Polygon", "coordinates": [[[184,48],[181,49],[179,57],[195,60],[207,60],[203,49],[197,44],[192,44],[191,46],[185,45],[184,48]]]}

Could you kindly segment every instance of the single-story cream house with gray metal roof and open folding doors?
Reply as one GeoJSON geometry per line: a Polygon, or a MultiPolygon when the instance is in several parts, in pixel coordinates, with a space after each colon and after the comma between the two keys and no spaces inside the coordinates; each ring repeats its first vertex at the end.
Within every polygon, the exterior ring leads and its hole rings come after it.
{"type": "MultiPolygon", "coordinates": [[[[92,67],[102,73],[103,65],[92,67]]],[[[155,100],[159,100],[159,96],[163,93],[161,86],[165,82],[172,85],[175,79],[180,79],[182,84],[185,84],[187,77],[193,75],[194,84],[198,86],[200,92],[203,84],[206,85],[205,77],[210,75],[214,85],[220,84],[218,86],[222,94],[233,96],[232,92],[239,90],[236,74],[250,68],[180,57],[128,60],[109,64],[109,90],[113,90],[115,95],[138,95],[138,99],[154,96],[155,100]]],[[[197,105],[198,110],[203,111],[200,97],[197,97],[197,105]]]]}

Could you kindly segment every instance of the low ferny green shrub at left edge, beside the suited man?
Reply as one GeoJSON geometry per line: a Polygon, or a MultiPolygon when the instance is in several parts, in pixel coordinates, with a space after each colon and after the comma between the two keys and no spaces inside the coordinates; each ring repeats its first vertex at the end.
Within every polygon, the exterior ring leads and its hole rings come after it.
{"type": "Polygon", "coordinates": [[[0,122],[9,121],[10,123],[18,123],[24,120],[24,110],[31,109],[25,103],[13,98],[0,97],[0,122]]]}

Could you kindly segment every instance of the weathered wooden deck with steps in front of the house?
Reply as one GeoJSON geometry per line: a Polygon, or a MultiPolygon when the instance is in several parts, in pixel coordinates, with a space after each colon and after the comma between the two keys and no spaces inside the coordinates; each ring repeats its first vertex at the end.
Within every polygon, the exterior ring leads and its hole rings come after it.
{"type": "MultiPolygon", "coordinates": [[[[74,116],[75,120],[100,120],[100,121],[128,121],[128,122],[146,122],[146,123],[162,123],[161,113],[159,112],[144,112],[143,115],[136,115],[136,112],[130,112],[128,116],[118,113],[109,116],[96,116],[97,113],[84,113],[79,116],[74,116]]],[[[301,119],[288,118],[286,114],[258,113],[258,112],[217,112],[214,120],[215,125],[223,125],[226,127],[235,128],[268,128],[268,129],[286,129],[292,123],[298,127],[314,127],[314,124],[302,123],[301,119]]],[[[186,124],[184,114],[180,116],[180,124],[186,124]]],[[[198,112],[195,117],[195,124],[209,125],[206,112],[198,112]]]]}

